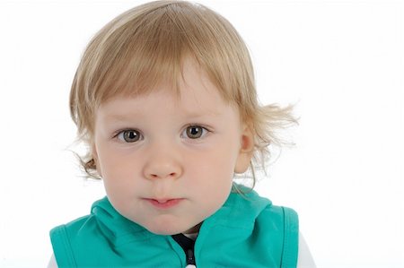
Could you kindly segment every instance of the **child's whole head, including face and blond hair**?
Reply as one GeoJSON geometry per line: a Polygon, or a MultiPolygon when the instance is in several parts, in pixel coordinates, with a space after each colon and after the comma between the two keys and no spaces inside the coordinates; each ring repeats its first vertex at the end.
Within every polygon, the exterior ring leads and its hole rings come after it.
{"type": "Polygon", "coordinates": [[[233,26],[181,1],[140,5],[98,32],[70,105],[90,148],[86,171],[104,179],[121,214],[163,234],[215,212],[233,174],[277,143],[274,127],[292,119],[287,109],[259,107],[233,26]]]}

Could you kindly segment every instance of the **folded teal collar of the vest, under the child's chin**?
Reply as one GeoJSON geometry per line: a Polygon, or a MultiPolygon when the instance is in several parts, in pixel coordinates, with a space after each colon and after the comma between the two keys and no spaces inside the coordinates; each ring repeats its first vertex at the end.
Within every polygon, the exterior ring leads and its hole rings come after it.
{"type": "MultiPolygon", "coordinates": [[[[259,213],[271,204],[268,199],[259,197],[256,192],[245,186],[237,187],[246,194],[231,193],[224,205],[203,222],[199,230],[198,244],[203,243],[202,240],[210,229],[217,225],[231,229],[250,229],[252,232],[259,213]]],[[[97,219],[103,235],[115,246],[132,241],[171,237],[155,235],[136,222],[127,220],[113,208],[107,196],[93,203],[92,216],[97,219]]]]}

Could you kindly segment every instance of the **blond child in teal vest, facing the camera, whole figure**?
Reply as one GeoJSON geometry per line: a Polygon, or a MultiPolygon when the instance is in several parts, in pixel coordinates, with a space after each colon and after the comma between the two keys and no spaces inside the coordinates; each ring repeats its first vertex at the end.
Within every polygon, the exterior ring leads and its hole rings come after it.
{"type": "Polygon", "coordinates": [[[296,267],[297,214],[233,183],[294,119],[258,105],[223,17],[182,1],[119,15],[86,48],[70,108],[107,196],[51,230],[51,266],[296,267]]]}

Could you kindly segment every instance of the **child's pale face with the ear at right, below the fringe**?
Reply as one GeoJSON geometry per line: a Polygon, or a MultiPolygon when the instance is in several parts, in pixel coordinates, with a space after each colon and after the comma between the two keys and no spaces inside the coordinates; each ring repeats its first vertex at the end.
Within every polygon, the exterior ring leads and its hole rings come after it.
{"type": "Polygon", "coordinates": [[[194,231],[250,163],[250,131],[206,74],[188,61],[180,99],[161,84],[97,110],[93,156],[110,202],[156,234],[194,231]]]}

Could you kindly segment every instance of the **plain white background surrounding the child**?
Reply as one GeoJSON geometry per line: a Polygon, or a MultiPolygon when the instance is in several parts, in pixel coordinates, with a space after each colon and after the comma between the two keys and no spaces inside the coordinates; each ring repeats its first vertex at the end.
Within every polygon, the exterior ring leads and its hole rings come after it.
{"type": "MultiPolygon", "coordinates": [[[[83,48],[143,1],[0,2],[0,266],[44,267],[48,230],[103,194],[69,146],[83,48]]],[[[296,145],[257,186],[300,214],[318,267],[404,267],[404,4],[200,1],[247,42],[262,103],[296,103],[296,145]]]]}

